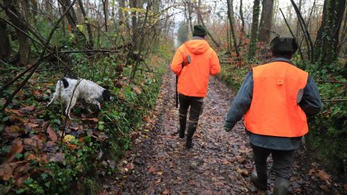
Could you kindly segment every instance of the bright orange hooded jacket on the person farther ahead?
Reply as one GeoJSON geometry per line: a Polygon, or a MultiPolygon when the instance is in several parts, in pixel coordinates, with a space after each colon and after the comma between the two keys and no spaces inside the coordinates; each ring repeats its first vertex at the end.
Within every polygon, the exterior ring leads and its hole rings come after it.
{"type": "Polygon", "coordinates": [[[189,40],[178,47],[171,62],[171,70],[178,76],[177,91],[185,96],[205,97],[210,75],[219,74],[221,67],[217,53],[205,40],[189,40]],[[187,62],[187,55],[192,62],[187,62]]]}

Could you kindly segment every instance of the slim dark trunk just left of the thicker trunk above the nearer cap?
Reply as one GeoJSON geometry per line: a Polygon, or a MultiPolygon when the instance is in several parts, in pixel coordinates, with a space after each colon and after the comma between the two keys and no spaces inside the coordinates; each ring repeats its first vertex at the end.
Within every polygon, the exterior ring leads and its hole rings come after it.
{"type": "Polygon", "coordinates": [[[257,41],[259,12],[260,12],[260,0],[254,0],[252,29],[251,29],[251,43],[249,45],[248,58],[254,58],[255,50],[257,49],[255,46],[255,42],[257,41]]]}

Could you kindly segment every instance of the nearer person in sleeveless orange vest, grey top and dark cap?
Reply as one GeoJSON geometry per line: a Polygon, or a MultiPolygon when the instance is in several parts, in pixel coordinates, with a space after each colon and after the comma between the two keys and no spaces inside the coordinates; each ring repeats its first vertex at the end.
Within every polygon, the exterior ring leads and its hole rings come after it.
{"type": "Polygon", "coordinates": [[[308,132],[306,117],[321,110],[321,98],[308,73],[289,60],[298,49],[296,40],[275,37],[270,47],[272,59],[247,74],[224,129],[230,131],[244,116],[256,169],[251,180],[258,189],[267,189],[266,158],[271,153],[273,194],[284,195],[289,194],[294,151],[308,132]]]}

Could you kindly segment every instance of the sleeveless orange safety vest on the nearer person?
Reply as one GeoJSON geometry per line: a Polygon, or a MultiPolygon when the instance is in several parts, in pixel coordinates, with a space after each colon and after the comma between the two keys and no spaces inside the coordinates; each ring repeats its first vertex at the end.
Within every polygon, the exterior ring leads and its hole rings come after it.
{"type": "Polygon", "coordinates": [[[297,103],[308,73],[287,62],[253,68],[253,98],[244,117],[247,130],[259,135],[300,137],[308,132],[305,112],[297,103]]]}

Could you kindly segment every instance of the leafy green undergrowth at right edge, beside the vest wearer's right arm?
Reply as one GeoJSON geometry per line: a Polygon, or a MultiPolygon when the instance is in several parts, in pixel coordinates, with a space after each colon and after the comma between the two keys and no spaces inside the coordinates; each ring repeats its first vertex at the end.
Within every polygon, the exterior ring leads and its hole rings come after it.
{"type": "MultiPolygon", "coordinates": [[[[346,99],[346,78],[341,76],[343,62],[332,62],[330,65],[306,64],[310,76],[316,80],[321,99],[346,99]],[[325,83],[332,81],[336,83],[325,83]]],[[[347,166],[347,101],[325,101],[323,110],[309,119],[310,132],[307,141],[319,157],[334,171],[343,173],[347,166]]]]}

